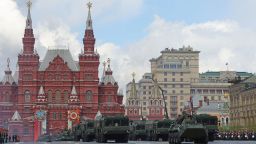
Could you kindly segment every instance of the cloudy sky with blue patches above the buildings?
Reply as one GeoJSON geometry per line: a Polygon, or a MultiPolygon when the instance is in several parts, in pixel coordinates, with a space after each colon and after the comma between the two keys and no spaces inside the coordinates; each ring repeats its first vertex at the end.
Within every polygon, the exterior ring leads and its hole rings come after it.
{"type": "MultiPolygon", "coordinates": [[[[91,0],[96,48],[111,58],[116,81],[125,90],[150,72],[149,59],[166,47],[192,46],[200,53],[200,72],[256,72],[255,0],[91,0]]],[[[15,70],[27,15],[26,0],[0,2],[0,76],[10,57],[15,70]]],[[[32,19],[40,59],[49,48],[81,51],[88,0],[33,0],[32,19]]]]}

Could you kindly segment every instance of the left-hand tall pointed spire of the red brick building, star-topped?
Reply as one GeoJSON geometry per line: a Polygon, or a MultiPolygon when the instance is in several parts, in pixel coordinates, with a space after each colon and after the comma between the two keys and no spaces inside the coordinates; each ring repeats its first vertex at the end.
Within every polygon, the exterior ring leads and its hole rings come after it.
{"type": "Polygon", "coordinates": [[[25,34],[23,37],[23,54],[34,54],[35,38],[33,34],[32,19],[30,14],[31,6],[32,6],[32,2],[31,0],[28,0],[27,2],[28,15],[26,20],[25,34]]]}

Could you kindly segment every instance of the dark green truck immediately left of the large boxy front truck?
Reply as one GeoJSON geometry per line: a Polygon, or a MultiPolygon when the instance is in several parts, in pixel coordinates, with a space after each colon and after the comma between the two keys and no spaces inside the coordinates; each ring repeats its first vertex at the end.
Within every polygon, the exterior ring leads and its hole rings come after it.
{"type": "Polygon", "coordinates": [[[94,129],[94,121],[85,121],[82,126],[83,126],[83,131],[82,131],[82,139],[84,142],[89,142],[93,141],[95,138],[95,129],[94,129]]]}

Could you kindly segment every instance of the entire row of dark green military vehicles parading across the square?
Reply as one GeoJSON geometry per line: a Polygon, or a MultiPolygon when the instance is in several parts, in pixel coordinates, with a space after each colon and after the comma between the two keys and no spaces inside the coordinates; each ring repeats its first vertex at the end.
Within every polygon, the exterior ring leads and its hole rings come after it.
{"type": "Polygon", "coordinates": [[[114,140],[118,143],[132,141],[169,141],[208,143],[214,140],[217,117],[210,115],[190,115],[183,113],[176,120],[129,121],[126,116],[100,116],[96,120],[86,120],[64,131],[58,140],[94,141],[105,143],[114,140]],[[69,136],[68,136],[69,135],[69,136]]]}

